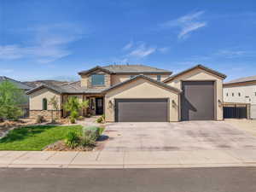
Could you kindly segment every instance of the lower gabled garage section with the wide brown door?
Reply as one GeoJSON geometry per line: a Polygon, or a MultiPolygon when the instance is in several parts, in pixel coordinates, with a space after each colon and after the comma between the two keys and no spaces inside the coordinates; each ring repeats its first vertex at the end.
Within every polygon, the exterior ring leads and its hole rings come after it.
{"type": "Polygon", "coordinates": [[[106,90],[106,121],[179,121],[180,92],[146,76],[136,76],[106,90]]]}

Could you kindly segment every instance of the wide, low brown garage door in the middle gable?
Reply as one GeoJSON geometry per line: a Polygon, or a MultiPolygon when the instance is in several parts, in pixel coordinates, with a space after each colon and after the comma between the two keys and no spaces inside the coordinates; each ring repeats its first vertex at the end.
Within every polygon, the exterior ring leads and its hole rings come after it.
{"type": "Polygon", "coordinates": [[[166,122],[167,99],[116,99],[116,122],[166,122]]]}

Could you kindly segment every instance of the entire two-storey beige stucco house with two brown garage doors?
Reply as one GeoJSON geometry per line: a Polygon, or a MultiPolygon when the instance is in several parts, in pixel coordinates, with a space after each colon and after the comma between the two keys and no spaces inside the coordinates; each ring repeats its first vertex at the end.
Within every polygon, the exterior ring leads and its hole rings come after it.
{"type": "Polygon", "coordinates": [[[61,116],[69,96],[88,99],[90,108],[80,112],[105,114],[107,122],[222,120],[223,80],[226,76],[197,65],[182,73],[144,65],[111,65],[80,72],[75,83],[42,84],[30,96],[32,118],[50,118],[47,103],[56,96],[61,116]]]}

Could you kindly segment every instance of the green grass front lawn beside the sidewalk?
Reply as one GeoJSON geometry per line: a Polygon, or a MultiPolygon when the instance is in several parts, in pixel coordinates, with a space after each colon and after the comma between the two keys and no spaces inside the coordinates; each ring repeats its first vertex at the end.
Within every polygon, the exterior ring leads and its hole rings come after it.
{"type": "Polygon", "coordinates": [[[0,140],[0,150],[39,151],[51,143],[66,137],[70,130],[81,131],[82,126],[36,125],[9,131],[7,137],[0,140]]]}

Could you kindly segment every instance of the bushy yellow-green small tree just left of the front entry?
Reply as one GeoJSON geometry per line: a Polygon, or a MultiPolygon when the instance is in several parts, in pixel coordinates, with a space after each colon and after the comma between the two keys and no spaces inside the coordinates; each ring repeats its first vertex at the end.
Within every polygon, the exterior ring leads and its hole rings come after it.
{"type": "Polygon", "coordinates": [[[75,123],[75,120],[79,118],[79,111],[86,109],[89,106],[89,100],[79,102],[79,99],[75,96],[71,96],[64,104],[64,109],[69,112],[69,118],[71,123],[75,123]]]}

